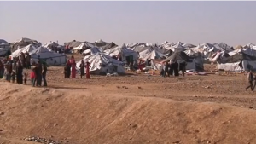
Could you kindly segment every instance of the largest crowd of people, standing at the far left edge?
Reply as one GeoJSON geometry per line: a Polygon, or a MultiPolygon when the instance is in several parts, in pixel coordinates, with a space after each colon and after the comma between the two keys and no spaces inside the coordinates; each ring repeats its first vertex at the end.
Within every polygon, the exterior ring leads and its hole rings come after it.
{"type": "Polygon", "coordinates": [[[32,86],[41,86],[42,79],[44,80],[44,85],[47,86],[46,63],[38,60],[38,63],[31,64],[31,57],[28,53],[26,55],[21,53],[18,57],[6,58],[3,62],[0,60],[0,78],[6,80],[7,82],[12,82],[17,84],[26,84],[28,74],[23,72],[25,69],[32,69],[31,72],[31,82],[32,86]]]}

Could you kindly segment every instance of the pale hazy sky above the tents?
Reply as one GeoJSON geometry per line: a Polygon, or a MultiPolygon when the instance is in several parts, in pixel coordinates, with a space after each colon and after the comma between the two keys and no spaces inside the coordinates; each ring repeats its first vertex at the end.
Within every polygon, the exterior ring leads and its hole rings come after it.
{"type": "Polygon", "coordinates": [[[256,44],[256,2],[0,2],[0,39],[256,44]]]}

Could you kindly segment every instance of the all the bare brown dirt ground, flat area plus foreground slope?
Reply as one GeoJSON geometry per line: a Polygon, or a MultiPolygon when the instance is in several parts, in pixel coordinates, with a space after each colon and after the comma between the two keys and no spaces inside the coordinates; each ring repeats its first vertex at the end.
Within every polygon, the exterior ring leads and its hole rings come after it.
{"type": "MultiPolygon", "coordinates": [[[[161,78],[143,72],[65,79],[47,88],[0,82],[0,143],[28,136],[85,144],[256,143],[256,92],[242,73],[161,78]]],[[[28,82],[30,84],[30,82],[28,82]]]]}

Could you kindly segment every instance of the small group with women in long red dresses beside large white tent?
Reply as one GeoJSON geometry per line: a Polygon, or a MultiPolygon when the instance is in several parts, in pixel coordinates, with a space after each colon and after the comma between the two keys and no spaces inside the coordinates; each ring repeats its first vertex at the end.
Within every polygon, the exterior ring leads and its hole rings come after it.
{"type": "MultiPolygon", "coordinates": [[[[84,61],[81,61],[80,64],[80,78],[85,78],[85,69],[86,69],[86,78],[90,78],[90,63],[86,62],[86,65],[84,64],[84,61]]],[[[66,66],[64,66],[64,78],[76,78],[76,61],[71,56],[70,60],[67,60],[66,66]]]]}

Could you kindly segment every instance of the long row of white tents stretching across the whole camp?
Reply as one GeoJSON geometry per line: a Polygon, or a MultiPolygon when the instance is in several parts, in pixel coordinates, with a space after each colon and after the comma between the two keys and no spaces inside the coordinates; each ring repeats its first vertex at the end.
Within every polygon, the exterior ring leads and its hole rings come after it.
{"type": "MultiPolygon", "coordinates": [[[[3,46],[1,46],[1,42],[2,41],[0,40],[0,48],[3,48],[3,46]]],[[[143,60],[151,60],[151,68],[155,70],[160,70],[161,66],[168,60],[186,61],[187,69],[195,69],[195,71],[203,71],[203,64],[208,61],[216,62],[218,64],[218,69],[223,69],[225,71],[247,71],[249,68],[256,69],[256,59],[254,59],[254,51],[256,50],[256,47],[252,43],[244,46],[239,45],[235,48],[230,47],[225,43],[203,43],[196,46],[193,44],[181,42],[164,42],[161,44],[128,43],[118,46],[113,42],[107,43],[102,40],[98,40],[94,43],[86,41],[72,41],[64,43],[65,46],[61,46],[55,42],[41,45],[38,43],[38,41],[31,40],[29,38],[22,38],[12,44],[12,51],[16,49],[12,55],[18,54],[21,48],[25,51],[28,50],[31,54],[35,53],[32,53],[32,51],[36,51],[35,49],[40,48],[44,49],[44,53],[47,52],[52,55],[51,58],[49,58],[49,60],[51,60],[51,63],[49,61],[50,65],[61,65],[66,62],[66,55],[52,52],[50,48],[53,45],[62,49],[66,49],[68,46],[69,49],[73,50],[73,53],[84,49],[84,61],[91,61],[90,63],[92,63],[92,71],[95,70],[95,67],[99,69],[99,66],[102,66],[104,67],[102,68],[102,71],[106,70],[111,72],[112,70],[110,69],[115,66],[115,70],[119,69],[119,72],[124,72],[121,70],[121,68],[119,68],[119,66],[124,66],[125,61],[129,57],[132,57],[132,60],[137,60],[138,58],[143,60]],[[27,47],[24,47],[24,45],[30,45],[30,48],[28,49],[27,47]],[[32,46],[34,48],[33,50],[31,50],[32,46]],[[19,50],[17,51],[17,49],[19,50]],[[117,55],[121,55],[122,61],[117,62],[118,60],[113,59],[113,56],[117,55]],[[56,59],[59,57],[59,60],[53,60],[55,57],[56,59]],[[61,57],[63,57],[63,60],[61,57]],[[108,63],[113,66],[106,66],[108,63]]],[[[42,50],[38,50],[38,53],[40,53],[39,51],[42,50]]],[[[43,53],[41,55],[43,55],[43,53]]],[[[42,57],[41,55],[40,57],[42,57]]],[[[36,57],[36,55],[34,57],[36,57]]]]}

